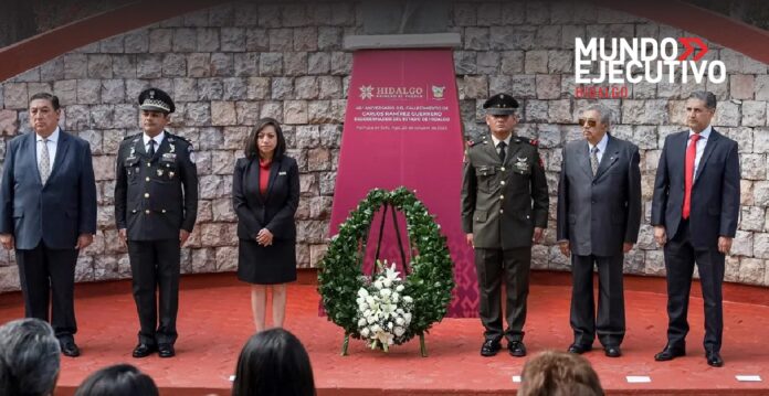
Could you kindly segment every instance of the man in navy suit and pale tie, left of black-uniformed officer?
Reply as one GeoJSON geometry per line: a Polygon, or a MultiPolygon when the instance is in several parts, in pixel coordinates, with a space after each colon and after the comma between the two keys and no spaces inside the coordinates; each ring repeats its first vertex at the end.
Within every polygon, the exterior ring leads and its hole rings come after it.
{"type": "Polygon", "coordinates": [[[8,145],[0,184],[0,242],[15,247],[27,318],[49,320],[66,356],[78,356],[74,307],[77,254],[96,233],[88,142],[59,128],[59,98],[30,98],[34,132],[8,145]]]}

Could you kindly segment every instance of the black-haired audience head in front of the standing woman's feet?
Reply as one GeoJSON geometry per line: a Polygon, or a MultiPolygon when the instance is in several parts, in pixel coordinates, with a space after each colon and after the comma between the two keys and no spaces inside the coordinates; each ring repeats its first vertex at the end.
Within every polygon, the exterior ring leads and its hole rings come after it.
{"type": "Polygon", "coordinates": [[[252,335],[238,357],[232,395],[315,395],[313,367],[302,342],[280,328],[252,335]]]}

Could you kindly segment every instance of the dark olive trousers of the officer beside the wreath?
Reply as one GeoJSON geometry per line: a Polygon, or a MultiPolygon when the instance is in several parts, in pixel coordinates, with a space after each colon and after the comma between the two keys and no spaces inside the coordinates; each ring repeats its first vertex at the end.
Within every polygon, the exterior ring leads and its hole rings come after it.
{"type": "Polygon", "coordinates": [[[524,339],[526,322],[526,298],[529,291],[531,248],[475,249],[475,270],[478,277],[481,298],[481,322],[486,329],[484,336],[501,340],[502,331],[502,282],[505,282],[505,318],[508,342],[524,339]]]}

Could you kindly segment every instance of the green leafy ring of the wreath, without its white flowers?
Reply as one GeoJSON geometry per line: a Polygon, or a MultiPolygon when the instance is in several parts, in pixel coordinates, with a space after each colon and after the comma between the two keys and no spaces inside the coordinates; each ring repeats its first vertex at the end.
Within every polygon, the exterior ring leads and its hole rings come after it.
{"type": "MultiPolygon", "coordinates": [[[[410,272],[403,279],[403,296],[411,296],[411,320],[396,344],[404,343],[414,335],[420,336],[422,355],[424,334],[433,323],[446,313],[454,288],[453,263],[446,247],[446,237],[441,235],[428,208],[413,192],[405,188],[393,191],[373,189],[358,203],[331,237],[325,257],[320,260],[318,291],[328,320],[345,330],[343,355],[347,354],[349,338],[361,339],[359,328],[359,290],[371,285],[362,274],[362,263],[373,215],[381,206],[401,211],[411,248],[411,263],[404,266],[410,272]]],[[[380,233],[381,234],[381,233],[380,233]]],[[[375,275],[376,276],[376,266],[375,275]]],[[[384,346],[384,345],[382,345],[384,346]]],[[[387,350],[387,347],[383,347],[387,350]]]]}

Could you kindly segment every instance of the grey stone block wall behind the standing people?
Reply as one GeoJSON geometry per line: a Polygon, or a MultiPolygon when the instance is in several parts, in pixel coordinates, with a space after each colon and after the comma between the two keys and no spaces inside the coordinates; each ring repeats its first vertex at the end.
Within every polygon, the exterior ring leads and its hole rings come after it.
{"type": "MultiPolygon", "coordinates": [[[[573,97],[575,36],[691,34],[569,1],[456,2],[451,15],[451,30],[462,35],[454,60],[466,133],[485,130],[480,109],[489,94],[507,92],[519,99],[517,133],[539,139],[554,195],[547,240],[534,248],[534,266],[567,270],[554,236],[560,148],[580,138],[573,122],[588,104],[573,97]]],[[[114,225],[115,153],[125,136],[139,131],[138,93],[160,87],[177,101],[170,130],[198,150],[200,213],[183,248],[182,271],[231,271],[236,266],[233,163],[255,120],[275,117],[285,125],[289,154],[301,168],[298,264],[315,267],[326,248],[351,68],[351,53],[341,42],[359,34],[361,23],[357,2],[229,3],[93,43],[2,83],[0,161],[7,142],[29,129],[29,96],[59,95],[62,127],[91,142],[97,180],[98,233],[81,254],[77,280],[129,277],[114,225]]],[[[629,98],[602,100],[615,111],[612,132],[642,150],[646,221],[625,272],[664,275],[647,222],[653,176],[665,136],[682,129],[685,97],[709,89],[720,100],[715,126],[739,142],[742,165],[741,218],[726,278],[769,286],[767,65],[715,43],[706,57],[726,63],[726,83],[634,84],[629,98]]],[[[13,255],[2,250],[0,291],[18,289],[18,282],[13,255]]]]}

